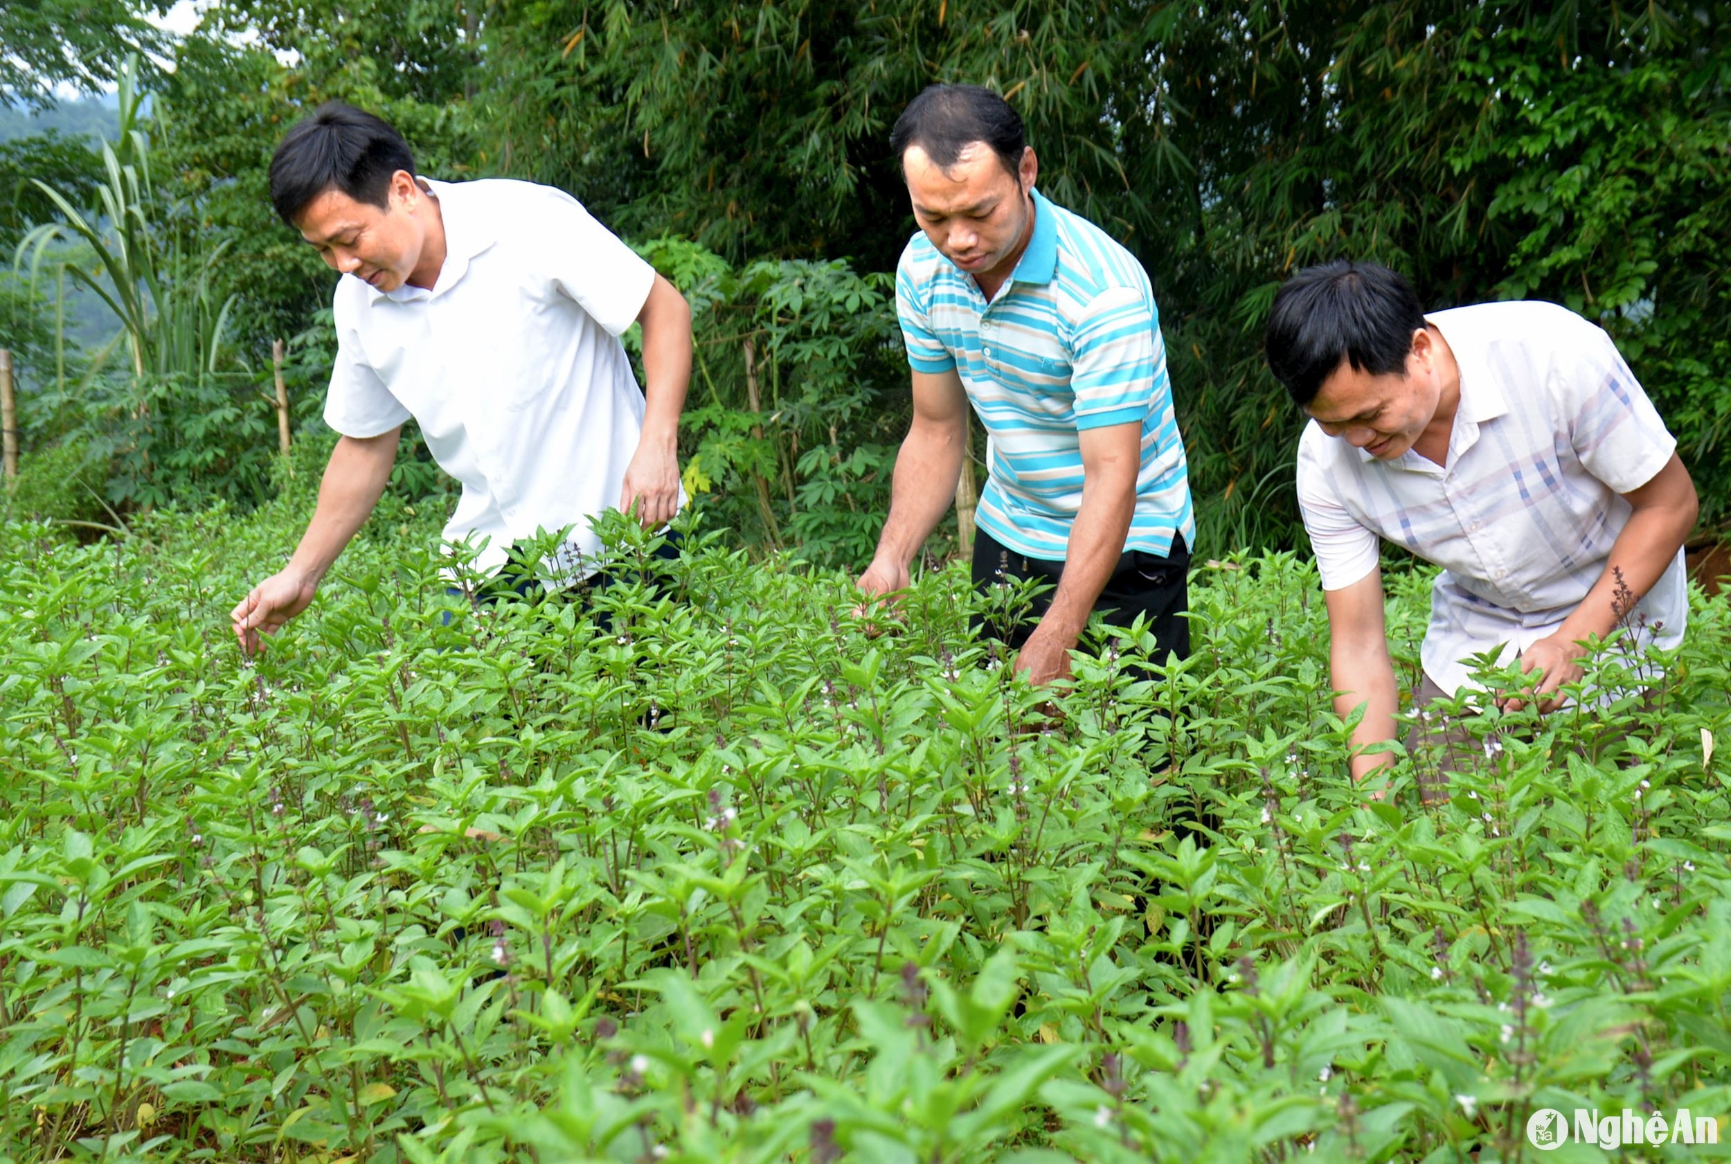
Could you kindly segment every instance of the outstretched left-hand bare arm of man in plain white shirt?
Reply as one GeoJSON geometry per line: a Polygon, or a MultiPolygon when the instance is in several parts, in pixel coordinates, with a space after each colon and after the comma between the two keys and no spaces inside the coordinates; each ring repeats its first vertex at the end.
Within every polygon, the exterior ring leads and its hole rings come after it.
{"type": "Polygon", "coordinates": [[[294,547],[289,565],[254,585],[253,592],[228,611],[242,651],[248,655],[256,651],[260,632],[275,634],[289,618],[312,605],[331,563],[379,504],[379,494],[391,480],[402,431],[398,424],[377,436],[344,436],[336,442],[319,485],[313,520],[306,525],[306,534],[294,547]]]}

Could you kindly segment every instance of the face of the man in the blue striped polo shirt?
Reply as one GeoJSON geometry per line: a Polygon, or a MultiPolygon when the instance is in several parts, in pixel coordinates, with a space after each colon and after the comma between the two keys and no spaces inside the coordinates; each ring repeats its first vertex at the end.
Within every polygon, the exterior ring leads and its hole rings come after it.
{"type": "Polygon", "coordinates": [[[914,222],[952,263],[975,277],[1007,277],[1021,256],[1033,218],[1033,151],[1011,175],[985,142],[966,146],[943,170],[919,146],[902,154],[902,177],[914,203],[914,222]]]}

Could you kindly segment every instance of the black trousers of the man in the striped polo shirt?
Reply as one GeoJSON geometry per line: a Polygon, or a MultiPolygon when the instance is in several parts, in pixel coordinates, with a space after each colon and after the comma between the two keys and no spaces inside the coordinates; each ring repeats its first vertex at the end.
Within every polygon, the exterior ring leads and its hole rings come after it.
{"type": "MultiPolygon", "coordinates": [[[[985,530],[975,530],[973,584],[985,592],[997,582],[1018,582],[1037,579],[1052,587],[1065,577],[1065,563],[1028,558],[1001,544],[985,530]]],[[[1028,611],[1013,625],[1001,625],[992,618],[976,618],[975,634],[988,634],[1013,650],[1033,634],[1033,627],[1052,605],[1052,591],[1033,596],[1028,611]]],[[[1172,553],[1165,558],[1141,549],[1127,549],[1118,558],[1118,566],[1106,579],[1104,589],[1094,601],[1094,610],[1115,627],[1127,627],[1137,615],[1148,617],[1148,629],[1155,634],[1156,650],[1151,658],[1163,660],[1167,651],[1179,658],[1189,656],[1189,620],[1182,615],[1189,610],[1189,547],[1184,535],[1172,537],[1172,553]]]]}

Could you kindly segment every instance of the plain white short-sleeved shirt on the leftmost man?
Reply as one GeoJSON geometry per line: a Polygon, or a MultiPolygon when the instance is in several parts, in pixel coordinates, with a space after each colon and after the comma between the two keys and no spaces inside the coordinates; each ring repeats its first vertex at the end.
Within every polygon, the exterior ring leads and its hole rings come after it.
{"type": "Polygon", "coordinates": [[[476,565],[492,573],[518,539],[571,525],[549,568],[576,582],[601,551],[589,518],[618,506],[642,433],[644,393],[618,336],[654,268],[564,191],[428,185],[445,265],[431,289],[343,275],[325,423],[377,436],[414,417],[462,483],[445,539],[485,540],[476,565]]]}

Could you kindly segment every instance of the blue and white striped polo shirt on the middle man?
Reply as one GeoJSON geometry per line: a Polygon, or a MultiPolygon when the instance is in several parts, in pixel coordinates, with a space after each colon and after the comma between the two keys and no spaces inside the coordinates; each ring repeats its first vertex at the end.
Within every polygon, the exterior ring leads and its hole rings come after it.
{"type": "Polygon", "coordinates": [[[1033,194],[1033,236],[987,303],[973,275],[916,234],[895,310],[916,372],[961,374],[987,430],[975,520],[1018,554],[1061,561],[1082,508],[1080,430],[1142,426],[1125,549],[1196,544],[1160,310],[1141,263],[1092,222],[1033,194]]]}

